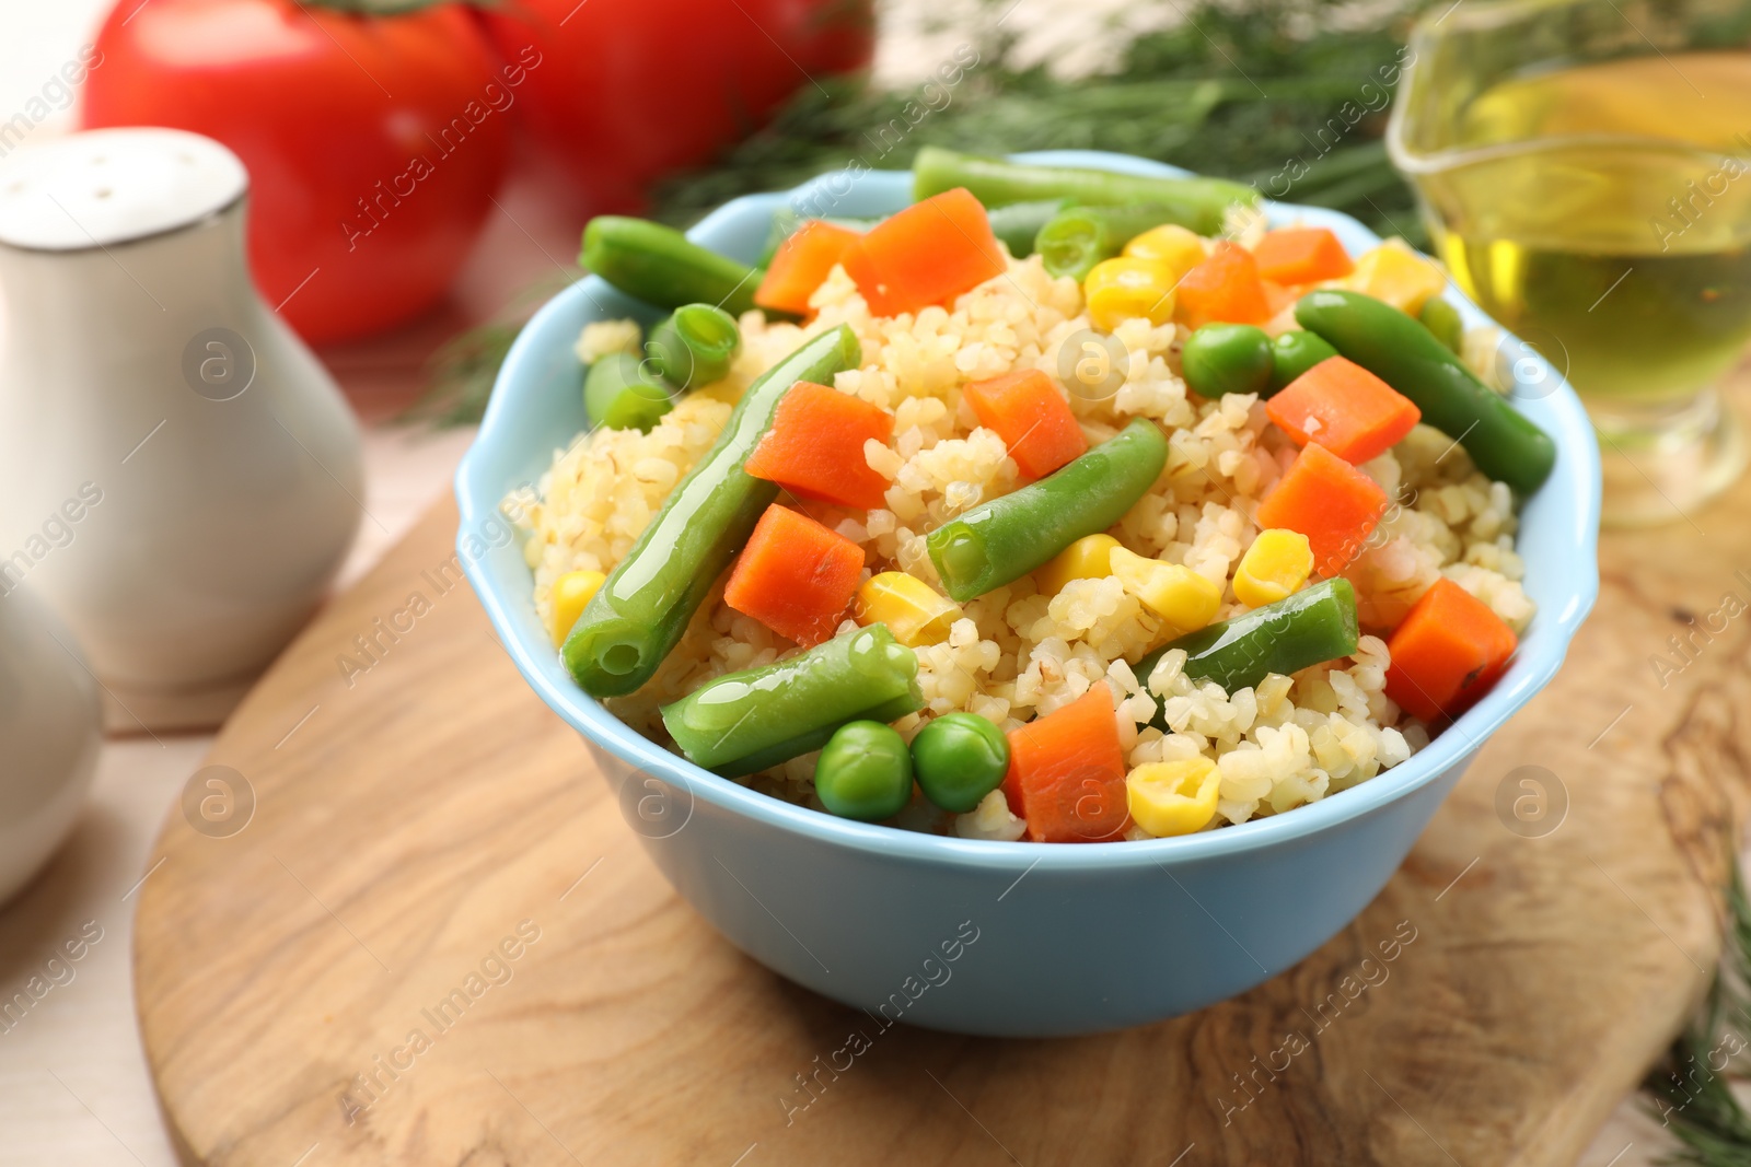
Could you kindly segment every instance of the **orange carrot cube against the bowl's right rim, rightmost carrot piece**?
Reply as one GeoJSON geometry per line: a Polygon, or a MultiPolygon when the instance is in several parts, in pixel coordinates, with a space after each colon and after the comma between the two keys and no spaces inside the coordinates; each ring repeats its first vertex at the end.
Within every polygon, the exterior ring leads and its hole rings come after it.
{"type": "Polygon", "coordinates": [[[1443,576],[1387,640],[1387,696],[1424,721],[1457,717],[1495,684],[1518,646],[1488,604],[1443,576]]]}

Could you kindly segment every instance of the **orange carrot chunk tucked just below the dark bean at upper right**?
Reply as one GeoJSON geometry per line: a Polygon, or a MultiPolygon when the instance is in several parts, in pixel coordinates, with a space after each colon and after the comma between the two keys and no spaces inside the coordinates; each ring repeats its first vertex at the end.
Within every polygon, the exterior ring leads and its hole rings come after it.
{"type": "Polygon", "coordinates": [[[1299,444],[1317,441],[1355,464],[1378,458],[1422,420],[1410,397],[1343,357],[1327,357],[1289,381],[1264,411],[1299,444]]]}

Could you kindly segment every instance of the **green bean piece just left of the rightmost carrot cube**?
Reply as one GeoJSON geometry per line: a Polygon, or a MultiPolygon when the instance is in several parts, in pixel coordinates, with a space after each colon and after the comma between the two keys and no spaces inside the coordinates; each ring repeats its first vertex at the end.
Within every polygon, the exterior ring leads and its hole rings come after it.
{"type": "MultiPolygon", "coordinates": [[[[1136,661],[1135,674],[1149,674],[1173,649],[1185,651],[1185,675],[1215,681],[1222,691],[1255,689],[1266,674],[1283,677],[1355,653],[1355,588],[1348,579],[1324,579],[1294,595],[1233,619],[1199,628],[1136,661]]],[[[1150,723],[1171,733],[1163,710],[1150,723]]]]}

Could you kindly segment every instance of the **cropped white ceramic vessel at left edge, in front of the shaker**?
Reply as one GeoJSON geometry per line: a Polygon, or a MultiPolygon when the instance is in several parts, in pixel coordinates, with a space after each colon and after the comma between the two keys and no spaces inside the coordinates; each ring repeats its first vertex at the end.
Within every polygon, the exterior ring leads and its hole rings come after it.
{"type": "Polygon", "coordinates": [[[98,763],[98,686],[30,588],[0,598],[0,903],[54,854],[98,763]]]}

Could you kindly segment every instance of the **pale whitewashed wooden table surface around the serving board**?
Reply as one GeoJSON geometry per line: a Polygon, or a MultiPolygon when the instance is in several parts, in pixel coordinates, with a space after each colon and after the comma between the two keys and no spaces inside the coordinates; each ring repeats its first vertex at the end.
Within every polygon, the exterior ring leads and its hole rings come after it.
{"type": "MultiPolygon", "coordinates": [[[[1061,38],[1066,21],[1086,28],[1126,7],[1115,0],[1021,0],[1014,21],[1044,42],[1061,38]]],[[[0,0],[0,121],[91,38],[103,9],[103,0],[0,0]]],[[[928,17],[970,10],[967,3],[890,0],[884,9],[879,59],[884,77],[928,72],[930,61],[965,38],[953,23],[944,28],[940,19],[928,17]]],[[[1087,59],[1100,59],[1114,40],[1086,37],[1080,44],[1087,59]]],[[[60,133],[67,124],[67,115],[60,115],[33,135],[60,133]]],[[[382,418],[406,401],[418,360],[447,331],[480,318],[515,289],[552,273],[552,255],[574,254],[573,224],[539,194],[511,191],[501,201],[506,213],[494,217],[447,310],[382,343],[324,353],[364,416],[382,418]]],[[[361,523],[341,584],[368,570],[448,490],[469,439],[471,430],[431,434],[385,425],[368,430],[364,507],[382,528],[361,523]]],[[[56,987],[16,1029],[0,1034],[0,1165],[173,1167],[177,1162],[159,1122],[133,1017],[133,889],[145,875],[165,815],[210,744],[210,735],[109,742],[91,801],[67,847],[0,908],[0,997],[16,992],[86,922],[102,927],[102,940],[74,966],[75,978],[56,987]]],[[[1632,1097],[1600,1130],[1581,1165],[1651,1167],[1672,1146],[1632,1097]]],[[[320,1162],[313,1158],[306,1167],[320,1162]]]]}

